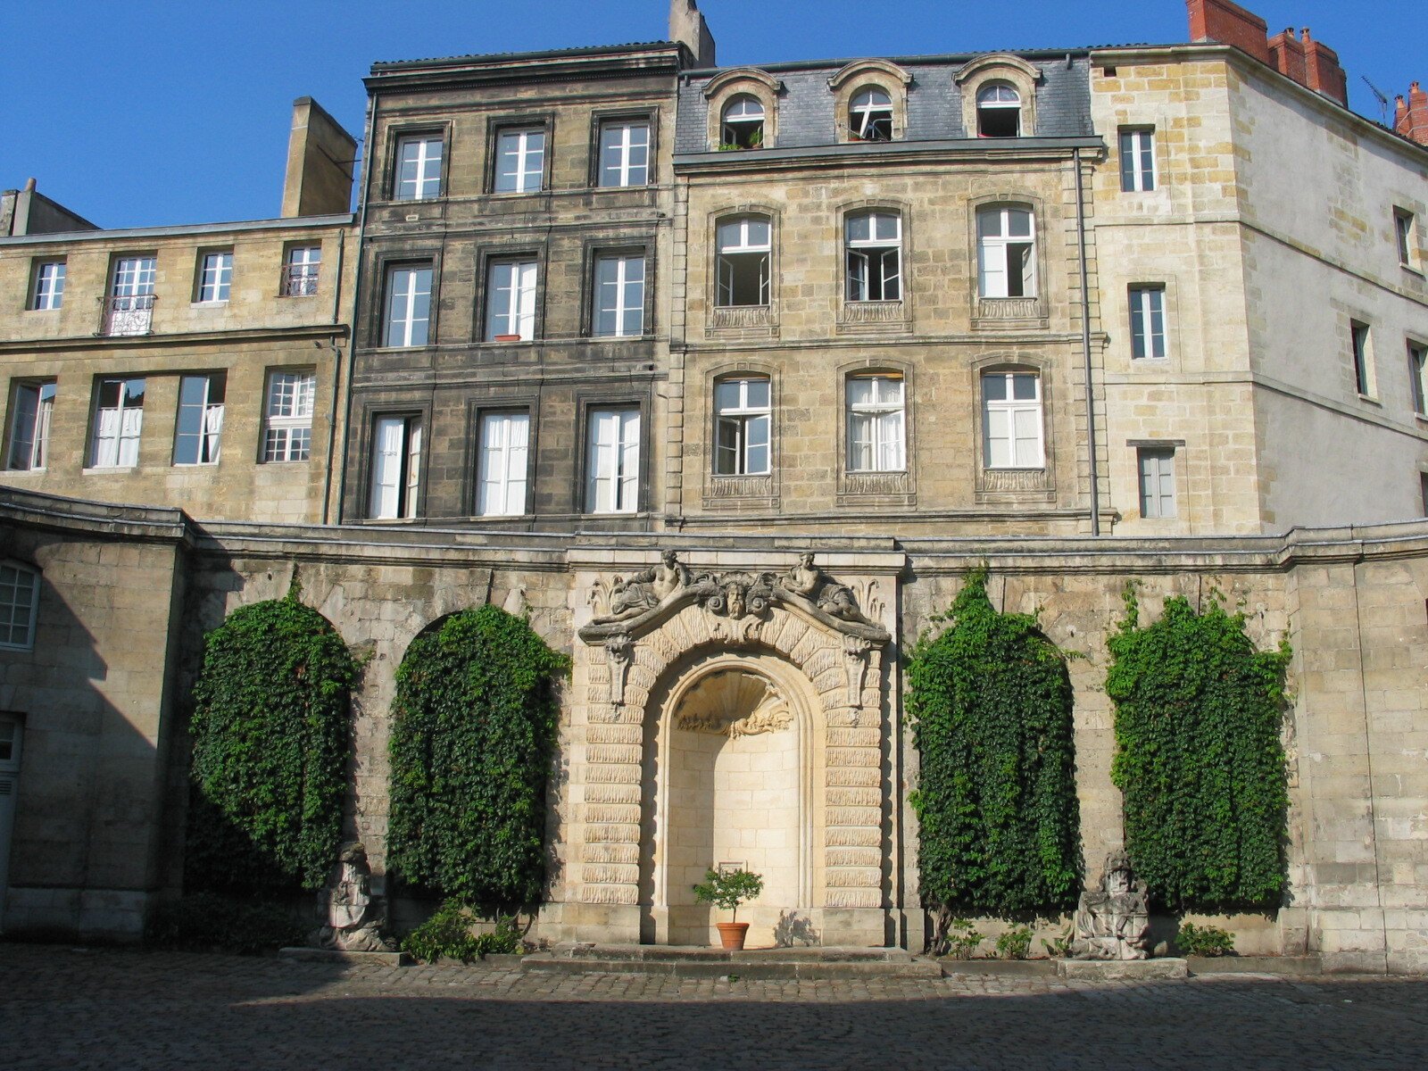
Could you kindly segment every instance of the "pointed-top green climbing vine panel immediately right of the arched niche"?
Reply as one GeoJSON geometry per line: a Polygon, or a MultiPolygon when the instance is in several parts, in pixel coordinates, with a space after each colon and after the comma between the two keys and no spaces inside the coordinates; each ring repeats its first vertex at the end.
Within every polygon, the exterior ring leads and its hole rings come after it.
{"type": "Polygon", "coordinates": [[[1001,614],[987,570],[908,658],[907,708],[921,753],[912,794],[922,902],[1010,915],[1075,902],[1080,820],[1065,657],[1032,614],[1001,614]]]}

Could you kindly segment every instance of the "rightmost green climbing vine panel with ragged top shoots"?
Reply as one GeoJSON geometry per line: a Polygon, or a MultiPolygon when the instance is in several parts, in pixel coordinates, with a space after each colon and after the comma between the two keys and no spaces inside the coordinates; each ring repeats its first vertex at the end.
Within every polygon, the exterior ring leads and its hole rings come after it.
{"type": "Polygon", "coordinates": [[[1255,650],[1244,617],[1181,597],[1141,627],[1134,585],[1110,638],[1111,780],[1137,874],[1170,910],[1274,907],[1285,887],[1288,643],[1255,650]]]}

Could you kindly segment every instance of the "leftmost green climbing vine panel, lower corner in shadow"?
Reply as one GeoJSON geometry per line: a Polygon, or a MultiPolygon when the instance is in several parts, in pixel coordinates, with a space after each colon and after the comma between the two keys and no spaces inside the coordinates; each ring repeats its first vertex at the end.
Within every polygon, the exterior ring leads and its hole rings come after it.
{"type": "Polygon", "coordinates": [[[190,892],[320,888],[341,841],[348,697],[360,665],[316,610],[234,610],[193,685],[190,892]]]}

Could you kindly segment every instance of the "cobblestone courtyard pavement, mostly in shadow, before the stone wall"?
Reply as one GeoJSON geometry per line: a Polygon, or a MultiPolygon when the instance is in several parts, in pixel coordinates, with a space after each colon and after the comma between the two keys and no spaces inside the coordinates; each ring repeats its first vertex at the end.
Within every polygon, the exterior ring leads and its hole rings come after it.
{"type": "Polygon", "coordinates": [[[14,1068],[1415,1068],[1428,980],[728,981],[0,945],[14,1068]]]}

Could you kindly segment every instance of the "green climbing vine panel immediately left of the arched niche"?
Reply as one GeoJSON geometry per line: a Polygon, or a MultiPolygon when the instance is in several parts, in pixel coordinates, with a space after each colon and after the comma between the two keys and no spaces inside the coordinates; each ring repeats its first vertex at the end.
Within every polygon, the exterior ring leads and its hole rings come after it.
{"type": "Polygon", "coordinates": [[[567,668],[493,605],[411,641],[391,704],[393,873],[476,907],[540,900],[554,681],[567,668]]]}

